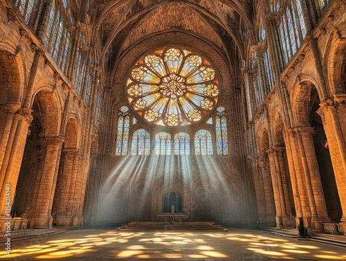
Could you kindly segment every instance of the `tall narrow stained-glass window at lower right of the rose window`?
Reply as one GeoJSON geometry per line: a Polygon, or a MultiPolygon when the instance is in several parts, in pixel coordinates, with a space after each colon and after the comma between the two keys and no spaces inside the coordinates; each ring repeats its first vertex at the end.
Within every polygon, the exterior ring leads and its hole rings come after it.
{"type": "Polygon", "coordinates": [[[227,118],[225,107],[218,107],[215,115],[217,154],[228,155],[227,118]]]}

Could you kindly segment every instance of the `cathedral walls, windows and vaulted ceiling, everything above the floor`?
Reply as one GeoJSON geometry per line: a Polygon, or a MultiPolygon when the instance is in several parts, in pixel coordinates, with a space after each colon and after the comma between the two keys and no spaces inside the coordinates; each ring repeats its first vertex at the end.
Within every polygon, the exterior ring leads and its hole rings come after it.
{"type": "Polygon", "coordinates": [[[345,0],[0,0],[0,229],[346,231],[345,0]]]}

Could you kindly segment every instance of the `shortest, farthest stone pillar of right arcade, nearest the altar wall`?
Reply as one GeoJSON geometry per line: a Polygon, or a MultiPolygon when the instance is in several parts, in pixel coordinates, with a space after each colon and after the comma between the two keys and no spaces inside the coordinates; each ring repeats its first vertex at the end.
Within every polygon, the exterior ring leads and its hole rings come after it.
{"type": "Polygon", "coordinates": [[[273,198],[273,186],[271,184],[271,174],[268,170],[268,158],[266,156],[260,156],[257,158],[257,163],[260,166],[262,172],[262,179],[264,185],[264,197],[266,201],[266,226],[275,225],[275,201],[273,198]]]}

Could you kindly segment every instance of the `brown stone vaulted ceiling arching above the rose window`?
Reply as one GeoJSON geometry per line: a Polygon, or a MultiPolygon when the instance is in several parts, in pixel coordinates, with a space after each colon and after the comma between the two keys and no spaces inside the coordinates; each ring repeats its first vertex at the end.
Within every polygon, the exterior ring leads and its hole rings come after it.
{"type": "MultiPolygon", "coordinates": [[[[172,32],[203,40],[228,64],[235,57],[244,60],[246,45],[255,42],[253,6],[246,0],[99,1],[97,12],[92,35],[101,41],[102,62],[110,66],[143,40],[172,32]]],[[[176,44],[184,43],[176,39],[176,44]]]]}

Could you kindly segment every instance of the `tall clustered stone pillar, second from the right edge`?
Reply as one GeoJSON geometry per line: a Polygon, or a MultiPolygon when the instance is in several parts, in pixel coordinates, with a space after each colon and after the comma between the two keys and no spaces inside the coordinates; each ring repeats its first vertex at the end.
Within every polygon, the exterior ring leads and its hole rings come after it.
{"type": "Polygon", "coordinates": [[[300,152],[300,162],[298,164],[302,164],[304,175],[303,189],[307,191],[311,211],[311,224],[307,220],[307,225],[308,228],[312,228],[312,232],[322,232],[322,222],[329,221],[329,217],[313,145],[313,128],[297,127],[294,130],[297,134],[298,149],[300,152]]]}

